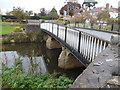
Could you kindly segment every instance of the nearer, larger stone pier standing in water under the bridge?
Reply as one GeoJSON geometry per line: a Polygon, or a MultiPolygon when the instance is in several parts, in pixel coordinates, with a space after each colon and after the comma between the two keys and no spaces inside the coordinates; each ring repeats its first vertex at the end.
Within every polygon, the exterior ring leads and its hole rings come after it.
{"type": "Polygon", "coordinates": [[[83,67],[81,64],[71,53],[65,48],[62,48],[62,52],[58,58],[58,66],[63,69],[72,69],[83,67]]]}

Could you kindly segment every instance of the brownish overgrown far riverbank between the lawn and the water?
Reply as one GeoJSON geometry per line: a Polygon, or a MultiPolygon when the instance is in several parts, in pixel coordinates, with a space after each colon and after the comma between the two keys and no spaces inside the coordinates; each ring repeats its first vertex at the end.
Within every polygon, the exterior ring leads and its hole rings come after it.
{"type": "Polygon", "coordinates": [[[11,32],[2,35],[2,44],[43,42],[43,32],[11,32]]]}

